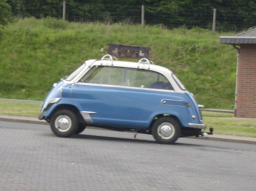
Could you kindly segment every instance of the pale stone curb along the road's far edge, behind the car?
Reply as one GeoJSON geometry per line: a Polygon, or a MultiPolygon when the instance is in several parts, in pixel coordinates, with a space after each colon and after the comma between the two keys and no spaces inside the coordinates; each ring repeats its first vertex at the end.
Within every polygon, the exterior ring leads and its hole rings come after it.
{"type": "MultiPolygon", "coordinates": [[[[0,121],[16,122],[16,123],[31,123],[31,124],[37,124],[37,125],[49,125],[49,123],[45,122],[44,120],[39,120],[34,117],[0,115],[0,121]]],[[[93,127],[88,127],[88,128],[93,128],[93,127]]],[[[187,137],[187,138],[198,139],[196,137],[187,137]]],[[[210,141],[223,141],[223,142],[230,142],[230,143],[256,144],[256,138],[244,137],[244,136],[214,134],[214,135],[202,136],[199,139],[210,140],[210,141]]]]}

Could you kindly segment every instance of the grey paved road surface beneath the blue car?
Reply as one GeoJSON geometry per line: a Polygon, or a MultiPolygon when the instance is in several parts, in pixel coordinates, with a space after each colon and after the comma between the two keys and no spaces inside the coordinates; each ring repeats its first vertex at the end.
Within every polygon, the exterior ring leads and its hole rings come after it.
{"type": "Polygon", "coordinates": [[[256,147],[87,129],[72,138],[47,125],[0,122],[0,190],[255,190],[256,147]]]}

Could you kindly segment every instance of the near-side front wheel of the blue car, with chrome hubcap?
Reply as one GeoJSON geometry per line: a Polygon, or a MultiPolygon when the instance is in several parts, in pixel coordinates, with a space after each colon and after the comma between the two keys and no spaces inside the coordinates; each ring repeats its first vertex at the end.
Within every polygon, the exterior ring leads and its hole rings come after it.
{"type": "Polygon", "coordinates": [[[50,119],[50,128],[57,136],[72,136],[78,128],[77,116],[70,110],[59,110],[50,119]]]}

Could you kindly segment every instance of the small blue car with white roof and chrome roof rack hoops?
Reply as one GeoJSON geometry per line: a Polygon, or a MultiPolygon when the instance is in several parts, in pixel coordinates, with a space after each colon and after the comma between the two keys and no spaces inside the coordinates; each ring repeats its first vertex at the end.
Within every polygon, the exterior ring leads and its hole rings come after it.
{"type": "Polygon", "coordinates": [[[146,58],[137,63],[105,55],[54,84],[38,118],[60,137],[90,126],[146,133],[173,144],[179,137],[204,135],[201,106],[169,69],[146,58]]]}

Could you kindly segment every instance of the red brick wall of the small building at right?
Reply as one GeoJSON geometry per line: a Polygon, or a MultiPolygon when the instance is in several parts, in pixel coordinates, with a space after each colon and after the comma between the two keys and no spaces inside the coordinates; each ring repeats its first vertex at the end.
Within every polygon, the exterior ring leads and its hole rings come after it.
{"type": "Polygon", "coordinates": [[[237,115],[256,118],[256,45],[240,45],[237,73],[237,115]]]}

